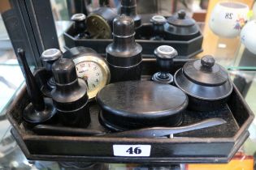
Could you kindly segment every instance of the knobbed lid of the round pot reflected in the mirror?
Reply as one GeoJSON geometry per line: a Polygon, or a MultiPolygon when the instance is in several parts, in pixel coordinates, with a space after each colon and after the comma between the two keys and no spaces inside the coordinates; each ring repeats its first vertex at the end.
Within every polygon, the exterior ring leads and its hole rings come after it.
{"type": "Polygon", "coordinates": [[[171,15],[167,21],[176,27],[191,27],[196,23],[194,19],[186,15],[184,10],[180,10],[175,15],[171,15]]]}

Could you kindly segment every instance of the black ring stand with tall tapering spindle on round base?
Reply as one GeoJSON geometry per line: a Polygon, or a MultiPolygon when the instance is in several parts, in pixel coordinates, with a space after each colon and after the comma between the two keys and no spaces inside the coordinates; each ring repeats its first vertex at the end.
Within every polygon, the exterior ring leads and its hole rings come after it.
{"type": "Polygon", "coordinates": [[[28,96],[31,101],[31,103],[24,109],[23,118],[25,121],[33,124],[49,121],[56,113],[52,100],[50,100],[50,98],[43,98],[36,80],[28,67],[24,49],[18,49],[17,53],[18,59],[23,66],[28,96]]]}

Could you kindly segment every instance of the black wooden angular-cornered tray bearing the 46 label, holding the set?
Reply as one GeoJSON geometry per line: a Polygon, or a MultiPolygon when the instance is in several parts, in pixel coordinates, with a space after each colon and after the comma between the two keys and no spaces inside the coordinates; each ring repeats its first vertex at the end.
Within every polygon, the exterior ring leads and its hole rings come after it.
{"type": "MultiPolygon", "coordinates": [[[[183,66],[185,60],[176,60],[173,72],[183,66]]],[[[142,79],[150,79],[156,71],[154,59],[143,60],[142,79]]],[[[37,73],[40,75],[40,72],[37,73]]],[[[202,121],[210,117],[219,117],[226,124],[202,130],[193,130],[174,134],[174,138],[103,138],[79,136],[46,136],[37,135],[25,128],[21,118],[22,110],[28,104],[25,87],[19,96],[12,101],[7,116],[13,125],[11,133],[28,159],[85,161],[105,163],[224,163],[228,162],[248,138],[248,127],[254,119],[236,87],[221,110],[208,113],[195,113],[189,110],[184,113],[182,125],[202,121]],[[150,155],[142,157],[115,156],[114,145],[147,145],[150,155]]],[[[92,122],[89,129],[109,133],[98,122],[99,108],[96,103],[90,104],[92,122]]]]}

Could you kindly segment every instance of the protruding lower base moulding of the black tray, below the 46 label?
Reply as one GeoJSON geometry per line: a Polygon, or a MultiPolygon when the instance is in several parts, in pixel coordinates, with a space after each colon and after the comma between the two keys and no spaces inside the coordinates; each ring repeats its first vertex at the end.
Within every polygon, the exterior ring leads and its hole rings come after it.
{"type": "Polygon", "coordinates": [[[12,129],[11,130],[11,134],[14,136],[18,136],[18,138],[15,138],[16,140],[18,140],[18,144],[21,148],[21,150],[24,152],[24,155],[31,160],[51,160],[51,161],[68,161],[70,159],[76,159],[75,162],[80,162],[80,161],[85,161],[85,159],[87,160],[86,162],[98,162],[101,161],[103,163],[141,163],[141,159],[143,159],[142,162],[147,162],[148,164],[154,164],[154,163],[159,163],[161,162],[161,164],[180,164],[180,163],[195,163],[195,161],[197,161],[196,163],[200,162],[200,164],[204,164],[204,163],[228,163],[230,159],[232,159],[233,155],[236,154],[236,151],[239,150],[241,143],[245,142],[245,140],[248,138],[249,136],[249,132],[248,130],[246,130],[244,132],[244,134],[242,135],[242,138],[240,141],[237,141],[235,143],[235,145],[232,147],[232,151],[230,152],[230,154],[225,157],[218,157],[216,158],[215,156],[213,157],[178,157],[178,158],[168,158],[168,157],[158,157],[158,158],[154,158],[154,157],[140,157],[140,160],[137,160],[137,157],[114,157],[115,160],[113,160],[113,156],[98,156],[97,158],[93,158],[92,156],[81,156],[81,155],[37,155],[37,154],[30,154],[30,152],[28,151],[28,147],[26,146],[26,144],[24,143],[24,140],[20,137],[20,134],[15,130],[12,129]],[[125,159],[126,158],[126,159],[125,159]],[[97,161],[93,161],[93,159],[97,159],[97,161]],[[120,160],[119,160],[120,159],[120,160]],[[129,160],[128,160],[129,159],[129,160]],[[132,161],[131,161],[132,160],[132,161]],[[182,161],[180,161],[182,160],[182,161]],[[150,161],[150,163],[149,163],[150,161]]]}

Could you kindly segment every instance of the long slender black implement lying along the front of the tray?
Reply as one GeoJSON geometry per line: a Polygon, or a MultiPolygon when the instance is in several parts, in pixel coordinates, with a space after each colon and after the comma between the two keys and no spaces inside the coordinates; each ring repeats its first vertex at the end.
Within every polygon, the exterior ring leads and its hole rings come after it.
{"type": "Polygon", "coordinates": [[[118,137],[118,138],[156,138],[170,134],[179,134],[191,130],[200,130],[203,128],[222,125],[226,123],[221,118],[210,118],[205,121],[199,121],[191,125],[180,127],[153,127],[139,130],[127,130],[112,134],[106,134],[100,130],[87,130],[82,128],[70,128],[55,125],[36,125],[33,131],[41,135],[58,135],[58,136],[98,136],[98,137],[118,137]]]}

